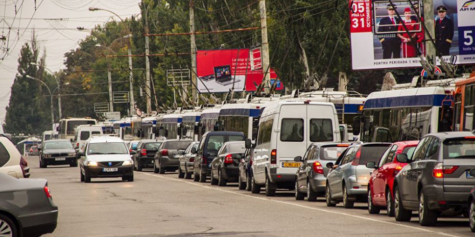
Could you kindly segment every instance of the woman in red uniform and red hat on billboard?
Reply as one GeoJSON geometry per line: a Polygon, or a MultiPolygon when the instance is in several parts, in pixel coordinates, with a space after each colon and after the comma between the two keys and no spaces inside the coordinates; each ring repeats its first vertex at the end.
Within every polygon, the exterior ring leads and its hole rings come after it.
{"type": "Polygon", "coordinates": [[[401,39],[401,49],[402,49],[402,57],[403,58],[414,58],[417,56],[417,46],[414,42],[417,41],[417,33],[414,31],[419,30],[419,24],[411,19],[411,9],[406,8],[404,9],[404,16],[405,18],[402,20],[406,25],[406,28],[409,31],[409,34],[406,32],[406,29],[403,27],[402,23],[397,28],[398,32],[405,32],[399,33],[397,36],[401,39]],[[414,41],[414,42],[412,42],[414,41]]]}

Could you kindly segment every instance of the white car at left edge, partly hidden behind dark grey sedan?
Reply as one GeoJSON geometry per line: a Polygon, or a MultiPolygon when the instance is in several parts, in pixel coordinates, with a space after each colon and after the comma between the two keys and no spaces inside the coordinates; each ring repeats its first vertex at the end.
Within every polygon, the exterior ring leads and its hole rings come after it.
{"type": "Polygon", "coordinates": [[[7,137],[0,136],[0,173],[15,178],[28,178],[30,168],[27,161],[7,137]]]}

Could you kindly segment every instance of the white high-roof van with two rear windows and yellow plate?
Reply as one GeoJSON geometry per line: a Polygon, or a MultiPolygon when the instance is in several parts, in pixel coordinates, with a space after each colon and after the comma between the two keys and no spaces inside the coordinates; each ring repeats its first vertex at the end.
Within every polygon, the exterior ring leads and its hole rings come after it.
{"type": "Polygon", "coordinates": [[[313,142],[340,140],[337,111],[333,103],[281,101],[264,109],[252,156],[253,193],[266,187],[266,195],[276,189],[294,189],[299,162],[313,142]]]}

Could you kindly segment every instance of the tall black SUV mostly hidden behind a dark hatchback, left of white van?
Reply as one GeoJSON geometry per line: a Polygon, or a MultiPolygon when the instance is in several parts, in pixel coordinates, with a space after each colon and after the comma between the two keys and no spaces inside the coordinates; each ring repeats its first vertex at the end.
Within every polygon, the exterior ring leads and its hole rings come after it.
{"type": "Polygon", "coordinates": [[[211,175],[211,162],[225,142],[244,141],[243,133],[238,131],[208,131],[203,134],[194,163],[195,181],[206,182],[206,176],[211,175]]]}

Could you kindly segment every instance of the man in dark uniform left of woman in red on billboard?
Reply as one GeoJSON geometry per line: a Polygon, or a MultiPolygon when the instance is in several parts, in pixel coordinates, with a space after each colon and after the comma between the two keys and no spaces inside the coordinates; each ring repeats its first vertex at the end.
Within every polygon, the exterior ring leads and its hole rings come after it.
{"type": "Polygon", "coordinates": [[[401,41],[396,36],[397,24],[400,21],[396,17],[396,7],[389,4],[386,9],[388,9],[388,16],[379,21],[378,32],[382,35],[378,38],[383,45],[383,59],[390,59],[391,56],[397,59],[401,57],[401,41]],[[384,32],[388,32],[388,34],[384,34],[384,32]]]}

